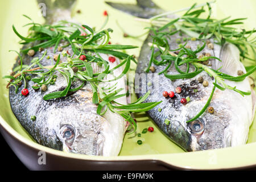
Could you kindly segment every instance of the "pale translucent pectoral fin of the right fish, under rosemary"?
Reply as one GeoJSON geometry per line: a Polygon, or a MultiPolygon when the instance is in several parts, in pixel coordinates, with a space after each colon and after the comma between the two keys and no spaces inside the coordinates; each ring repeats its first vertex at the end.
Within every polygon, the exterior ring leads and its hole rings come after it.
{"type": "Polygon", "coordinates": [[[226,43],[220,51],[221,61],[214,61],[213,69],[220,69],[221,72],[232,76],[238,76],[239,70],[246,73],[246,69],[240,61],[240,51],[234,44],[226,43]]]}

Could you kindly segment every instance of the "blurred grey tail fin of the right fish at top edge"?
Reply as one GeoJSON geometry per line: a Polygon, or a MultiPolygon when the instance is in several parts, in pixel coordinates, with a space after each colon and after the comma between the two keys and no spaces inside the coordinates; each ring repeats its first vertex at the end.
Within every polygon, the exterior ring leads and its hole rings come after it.
{"type": "Polygon", "coordinates": [[[137,5],[113,2],[105,3],[114,7],[114,9],[121,10],[139,18],[151,18],[152,16],[164,13],[164,10],[155,5],[151,0],[137,0],[137,5]]]}

